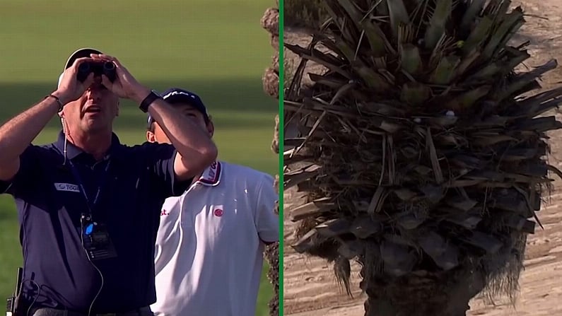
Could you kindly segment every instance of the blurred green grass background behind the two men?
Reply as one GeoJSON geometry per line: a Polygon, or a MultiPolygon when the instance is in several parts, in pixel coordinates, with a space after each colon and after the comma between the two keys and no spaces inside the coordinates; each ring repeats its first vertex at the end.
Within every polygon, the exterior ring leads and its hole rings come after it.
{"type": "MultiPolygon", "coordinates": [[[[271,3],[270,3],[271,2],[271,3]]],[[[66,58],[80,47],[117,57],[146,86],[192,89],[209,107],[222,160],[274,175],[270,145],[276,100],[261,77],[273,49],[259,19],[266,0],[70,1],[0,0],[0,122],[57,85],[66,58]]],[[[146,117],[122,101],[115,131],[126,144],[144,141],[146,117]]],[[[35,144],[59,131],[53,119],[35,144]]],[[[13,291],[21,246],[11,197],[0,196],[0,299],[13,291]]],[[[262,274],[257,315],[268,315],[271,285],[262,274]]]]}

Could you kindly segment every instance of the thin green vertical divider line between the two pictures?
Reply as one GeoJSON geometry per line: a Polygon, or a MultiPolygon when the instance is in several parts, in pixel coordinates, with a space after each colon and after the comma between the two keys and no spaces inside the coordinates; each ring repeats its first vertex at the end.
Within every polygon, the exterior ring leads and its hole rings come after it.
{"type": "Polygon", "coordinates": [[[284,279],[283,279],[283,140],[284,136],[284,115],[283,115],[283,98],[285,96],[285,59],[283,57],[283,0],[279,0],[279,315],[283,313],[283,296],[284,296],[284,279]]]}

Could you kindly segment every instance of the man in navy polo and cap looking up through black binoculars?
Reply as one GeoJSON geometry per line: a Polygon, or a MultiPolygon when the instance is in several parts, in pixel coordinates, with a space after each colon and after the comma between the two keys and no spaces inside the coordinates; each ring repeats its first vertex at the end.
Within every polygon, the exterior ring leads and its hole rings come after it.
{"type": "Polygon", "coordinates": [[[160,206],[216,156],[209,135],[117,59],[74,52],[57,90],[0,127],[0,193],[14,197],[21,223],[15,316],[153,315],[160,206]],[[119,98],[139,104],[172,144],[120,144],[119,98]],[[31,144],[57,114],[59,139],[31,144]]]}

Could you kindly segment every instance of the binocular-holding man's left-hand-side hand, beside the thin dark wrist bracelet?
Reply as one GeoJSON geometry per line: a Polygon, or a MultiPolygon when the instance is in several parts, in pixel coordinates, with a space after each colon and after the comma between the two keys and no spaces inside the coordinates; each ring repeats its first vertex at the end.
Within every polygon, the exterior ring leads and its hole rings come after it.
{"type": "Polygon", "coordinates": [[[80,98],[84,91],[94,82],[94,74],[89,74],[84,82],[80,82],[76,79],[78,67],[85,62],[93,62],[93,60],[88,57],[76,59],[74,64],[64,71],[59,88],[52,95],[57,96],[64,105],[80,98]]]}

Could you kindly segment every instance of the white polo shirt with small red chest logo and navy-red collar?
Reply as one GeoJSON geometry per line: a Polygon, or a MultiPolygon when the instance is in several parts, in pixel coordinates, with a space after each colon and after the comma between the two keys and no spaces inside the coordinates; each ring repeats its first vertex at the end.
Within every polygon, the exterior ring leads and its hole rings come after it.
{"type": "Polygon", "coordinates": [[[166,199],[156,241],[157,316],[254,316],[264,242],[279,240],[274,179],[217,162],[166,199]]]}

